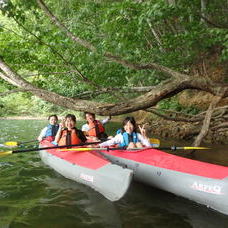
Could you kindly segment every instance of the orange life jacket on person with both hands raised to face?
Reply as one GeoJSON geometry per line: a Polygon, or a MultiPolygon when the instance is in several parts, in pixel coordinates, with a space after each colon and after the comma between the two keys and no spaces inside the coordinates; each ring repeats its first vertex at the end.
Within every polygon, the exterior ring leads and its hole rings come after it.
{"type": "Polygon", "coordinates": [[[63,130],[60,140],[58,142],[59,146],[71,145],[71,144],[80,144],[82,140],[78,137],[77,129],[74,128],[71,131],[63,130]]]}

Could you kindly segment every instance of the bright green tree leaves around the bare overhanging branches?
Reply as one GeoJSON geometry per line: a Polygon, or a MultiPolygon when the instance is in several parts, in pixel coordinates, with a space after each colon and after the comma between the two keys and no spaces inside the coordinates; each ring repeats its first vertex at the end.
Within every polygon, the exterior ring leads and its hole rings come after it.
{"type": "MultiPolygon", "coordinates": [[[[219,60],[227,61],[225,27],[228,19],[223,7],[227,1],[207,1],[204,13],[211,20],[210,24],[202,20],[200,1],[167,2],[45,0],[53,14],[75,36],[97,48],[97,52],[92,52],[74,43],[51,23],[36,0],[7,1],[0,14],[1,56],[26,80],[68,97],[94,89],[80,79],[76,68],[101,87],[151,86],[167,79],[159,72],[131,70],[107,61],[103,57],[107,52],[132,62],[156,62],[180,71],[190,68],[215,49],[221,50],[219,60]]],[[[4,82],[2,91],[12,88],[4,82]]],[[[134,97],[138,94],[119,95],[134,97]]],[[[18,99],[17,104],[24,104],[24,108],[9,111],[12,113],[36,112],[28,102],[31,95],[28,96],[10,95],[1,101],[8,111],[14,99],[18,99]]],[[[94,99],[113,102],[118,96],[113,93],[94,99]]],[[[45,112],[51,108],[41,101],[30,103],[45,112]]],[[[163,106],[183,110],[173,101],[165,101],[163,106]]]]}

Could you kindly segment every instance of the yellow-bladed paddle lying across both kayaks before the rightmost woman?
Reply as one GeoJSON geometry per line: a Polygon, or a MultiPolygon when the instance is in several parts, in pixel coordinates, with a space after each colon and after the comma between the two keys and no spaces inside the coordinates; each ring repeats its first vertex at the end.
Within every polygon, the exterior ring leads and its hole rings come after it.
{"type": "Polygon", "coordinates": [[[83,147],[83,148],[71,148],[71,149],[60,149],[58,151],[93,151],[93,150],[145,150],[145,149],[160,149],[160,150],[208,150],[211,148],[207,147],[193,147],[193,146],[184,146],[184,147],[177,147],[177,146],[171,146],[171,147],[142,147],[142,148],[131,148],[126,149],[123,147],[83,147]]]}

